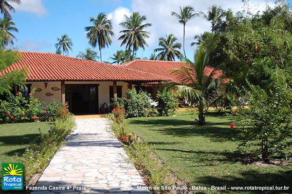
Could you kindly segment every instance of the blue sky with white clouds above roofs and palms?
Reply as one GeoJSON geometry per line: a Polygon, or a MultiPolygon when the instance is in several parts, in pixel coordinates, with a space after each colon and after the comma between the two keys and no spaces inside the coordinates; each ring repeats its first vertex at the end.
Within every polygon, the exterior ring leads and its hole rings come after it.
{"type": "MultiPolygon", "coordinates": [[[[289,0],[290,2],[292,0],[289,0]]],[[[221,5],[224,9],[231,8],[234,11],[243,9],[241,0],[22,0],[20,6],[15,5],[16,13],[12,14],[19,33],[15,35],[18,41],[15,47],[19,50],[54,52],[57,36],[66,33],[73,40],[73,51],[70,56],[75,57],[79,51],[84,51],[88,44],[85,26],[89,26],[89,17],[96,17],[103,12],[108,15],[113,23],[115,35],[112,37],[112,45],[102,50],[102,58],[108,60],[117,49],[120,48],[118,25],[124,15],[139,11],[147,16],[147,22],[152,27],[147,29],[151,37],[147,40],[149,47],[145,51],[139,49],[137,56],[148,57],[157,47],[158,38],[162,35],[173,33],[183,42],[183,26],[176,18],[171,16],[171,11],[179,11],[179,6],[191,5],[196,12],[205,12],[212,4],[221,5]]],[[[248,6],[253,12],[263,10],[272,0],[251,0],[248,6]]],[[[210,31],[210,23],[197,17],[187,23],[186,26],[186,53],[192,58],[195,48],[190,47],[194,35],[204,31],[210,31]]],[[[125,46],[122,47],[125,49],[125,46]]],[[[97,48],[95,48],[98,51],[97,48]]],[[[183,52],[183,49],[181,49],[183,52]]]]}

